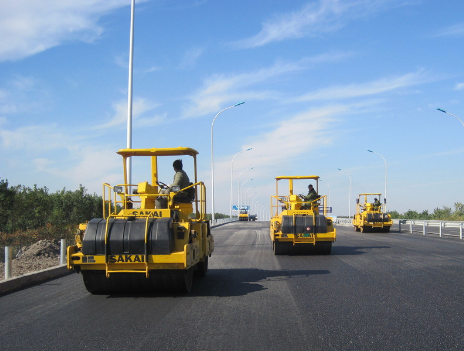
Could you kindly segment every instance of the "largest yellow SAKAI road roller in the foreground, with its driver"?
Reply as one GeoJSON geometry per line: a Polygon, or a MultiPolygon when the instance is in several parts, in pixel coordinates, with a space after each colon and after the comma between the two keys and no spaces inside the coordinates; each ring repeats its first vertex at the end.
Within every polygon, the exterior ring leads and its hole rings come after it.
{"type": "Polygon", "coordinates": [[[205,185],[197,180],[198,152],[178,147],[117,153],[124,184],[103,184],[103,218],[79,225],[76,245],[67,249],[68,269],[82,273],[92,294],[189,292],[193,275],[206,275],[214,250],[205,185]],[[162,183],[158,165],[165,156],[192,157],[194,181],[182,189],[162,183]],[[150,182],[129,183],[128,159],[136,157],[151,169],[150,182]]]}

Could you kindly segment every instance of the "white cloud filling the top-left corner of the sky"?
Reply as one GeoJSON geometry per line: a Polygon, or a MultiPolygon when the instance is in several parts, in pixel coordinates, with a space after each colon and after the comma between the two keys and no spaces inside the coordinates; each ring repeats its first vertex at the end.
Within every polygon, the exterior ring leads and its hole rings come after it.
{"type": "MultiPolygon", "coordinates": [[[[146,0],[140,0],[142,2],[146,0]]],[[[19,60],[68,40],[92,42],[100,17],[130,6],[126,0],[15,0],[2,2],[0,61],[19,60]]]]}

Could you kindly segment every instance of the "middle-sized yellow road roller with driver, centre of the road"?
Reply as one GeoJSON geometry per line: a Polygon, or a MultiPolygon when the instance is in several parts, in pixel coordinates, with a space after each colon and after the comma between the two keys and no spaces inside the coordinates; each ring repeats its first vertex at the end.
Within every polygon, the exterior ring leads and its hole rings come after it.
{"type": "Polygon", "coordinates": [[[294,182],[316,183],[318,176],[276,177],[276,195],[271,196],[270,236],[275,255],[292,252],[312,252],[330,255],[336,240],[336,229],[331,217],[327,217],[327,196],[315,196],[307,200],[304,195],[294,194],[294,182]],[[288,181],[287,195],[279,193],[279,181],[288,181]],[[322,209],[322,210],[321,210],[322,209]]]}

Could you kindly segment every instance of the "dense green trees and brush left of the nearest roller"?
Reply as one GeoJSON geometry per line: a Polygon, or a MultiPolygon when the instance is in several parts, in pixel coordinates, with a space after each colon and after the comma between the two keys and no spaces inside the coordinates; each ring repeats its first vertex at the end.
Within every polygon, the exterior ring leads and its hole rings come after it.
{"type": "Polygon", "coordinates": [[[101,218],[102,198],[78,190],[50,193],[47,187],[9,186],[0,180],[0,257],[4,246],[12,252],[39,240],[66,239],[74,242],[77,225],[101,218]]]}

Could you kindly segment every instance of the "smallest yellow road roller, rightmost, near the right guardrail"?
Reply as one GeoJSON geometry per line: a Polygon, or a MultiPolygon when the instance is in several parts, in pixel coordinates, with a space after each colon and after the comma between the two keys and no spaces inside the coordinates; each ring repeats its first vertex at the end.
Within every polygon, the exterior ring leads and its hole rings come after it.
{"type": "MultiPolygon", "coordinates": [[[[356,199],[356,214],[353,216],[353,226],[357,232],[390,231],[393,221],[388,213],[383,211],[385,203],[380,203],[381,194],[359,194],[356,199]],[[375,204],[374,199],[379,202],[375,204]]],[[[384,200],[385,202],[385,200],[384,200]]]]}

